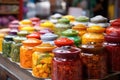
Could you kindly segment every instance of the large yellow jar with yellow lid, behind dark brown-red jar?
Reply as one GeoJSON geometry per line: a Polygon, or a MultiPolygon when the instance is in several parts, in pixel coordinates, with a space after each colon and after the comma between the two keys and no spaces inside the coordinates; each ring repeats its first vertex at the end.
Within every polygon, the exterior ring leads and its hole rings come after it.
{"type": "Polygon", "coordinates": [[[104,42],[104,31],[105,28],[100,26],[91,26],[87,28],[87,33],[82,36],[82,44],[87,44],[89,42],[103,43],[104,42]]]}

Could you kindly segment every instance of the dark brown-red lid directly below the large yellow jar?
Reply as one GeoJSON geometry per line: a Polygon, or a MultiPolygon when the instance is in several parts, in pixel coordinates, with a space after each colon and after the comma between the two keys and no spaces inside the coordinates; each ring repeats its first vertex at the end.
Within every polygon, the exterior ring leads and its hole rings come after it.
{"type": "Polygon", "coordinates": [[[80,46],[80,49],[84,53],[93,53],[94,54],[94,53],[101,52],[102,49],[104,49],[104,46],[101,43],[90,42],[88,44],[82,44],[80,46]]]}

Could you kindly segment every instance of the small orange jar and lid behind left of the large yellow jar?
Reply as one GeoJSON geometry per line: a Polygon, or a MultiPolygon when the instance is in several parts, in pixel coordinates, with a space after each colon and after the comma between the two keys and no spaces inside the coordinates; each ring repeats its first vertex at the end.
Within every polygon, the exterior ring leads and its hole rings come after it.
{"type": "Polygon", "coordinates": [[[82,37],[82,35],[84,35],[87,32],[87,27],[83,24],[78,24],[72,27],[73,30],[78,31],[78,34],[80,37],[82,37]]]}

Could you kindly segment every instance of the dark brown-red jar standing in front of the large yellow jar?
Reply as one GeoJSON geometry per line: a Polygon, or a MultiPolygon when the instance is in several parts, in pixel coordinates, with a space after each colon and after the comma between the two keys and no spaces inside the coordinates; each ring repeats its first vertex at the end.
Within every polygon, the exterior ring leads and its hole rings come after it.
{"type": "Polygon", "coordinates": [[[89,43],[80,46],[80,57],[83,62],[84,77],[101,79],[107,75],[107,53],[100,43],[89,43]]]}

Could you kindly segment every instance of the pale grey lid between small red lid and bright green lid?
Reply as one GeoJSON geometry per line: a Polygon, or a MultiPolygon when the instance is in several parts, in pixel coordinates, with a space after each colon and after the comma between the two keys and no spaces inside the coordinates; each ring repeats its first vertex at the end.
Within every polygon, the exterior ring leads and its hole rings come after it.
{"type": "Polygon", "coordinates": [[[53,34],[53,33],[46,33],[41,35],[41,40],[43,41],[53,41],[58,38],[58,35],[53,34]]]}

